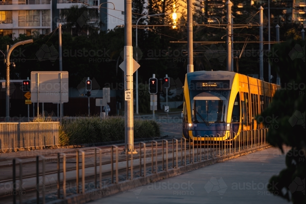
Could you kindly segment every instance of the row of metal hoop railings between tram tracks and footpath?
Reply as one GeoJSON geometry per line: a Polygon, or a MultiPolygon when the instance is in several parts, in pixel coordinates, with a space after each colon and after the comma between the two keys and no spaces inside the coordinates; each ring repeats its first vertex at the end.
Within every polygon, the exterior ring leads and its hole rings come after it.
{"type": "MultiPolygon", "coordinates": [[[[95,189],[102,189],[102,181],[110,181],[111,184],[118,184],[120,181],[123,180],[133,180],[133,177],[145,177],[148,174],[156,174],[161,171],[169,171],[170,169],[177,169],[179,166],[186,166],[188,164],[202,162],[209,159],[214,159],[218,157],[222,157],[227,154],[235,154],[242,150],[248,150],[255,147],[260,147],[267,144],[266,141],[266,134],[268,132],[267,128],[253,130],[253,131],[241,131],[241,132],[232,132],[227,135],[222,134],[224,137],[222,140],[220,139],[220,134],[216,135],[204,135],[204,136],[197,136],[197,142],[188,141],[189,145],[186,145],[186,139],[181,138],[181,142],[177,139],[163,139],[161,141],[151,141],[151,143],[139,143],[139,147],[136,148],[139,150],[139,154],[126,154],[126,160],[123,160],[125,157],[124,155],[119,156],[119,149],[115,145],[111,145],[110,147],[110,159],[109,156],[102,156],[102,148],[95,147],[94,148],[94,165],[86,164],[86,157],[85,151],[83,150],[76,150],[76,176],[70,178],[70,183],[73,180],[76,181],[75,186],[67,185],[66,181],[66,155],[64,153],[58,153],[57,155],[57,194],[59,199],[65,199],[66,190],[70,189],[70,195],[73,193],[78,194],[82,193],[85,194],[85,191],[90,190],[89,185],[88,188],[85,188],[85,184],[93,183],[93,188],[95,189]],[[202,140],[205,138],[205,140],[202,140]],[[150,147],[151,145],[151,147],[150,147]],[[196,147],[195,147],[196,145],[196,147]],[[189,154],[186,149],[189,149],[189,154]],[[172,153],[172,154],[171,154],[172,153]],[[151,155],[150,155],[151,154],[151,155]],[[199,158],[200,155],[200,158],[199,158]],[[172,158],[171,158],[172,156],[172,158]],[[102,157],[107,160],[107,162],[102,162],[102,157]],[[120,164],[119,164],[119,157],[120,157],[120,164]],[[62,168],[60,168],[62,158],[62,168]],[[187,159],[188,158],[188,159],[187,159]],[[79,160],[81,159],[81,167],[79,160]],[[166,160],[166,161],[165,161],[166,160]],[[172,160],[172,161],[171,161],[172,160]],[[125,164],[126,162],[126,169],[125,164]],[[133,166],[134,163],[134,166],[133,166]],[[151,165],[150,165],[151,164],[151,165]],[[97,167],[99,165],[99,171],[97,171],[97,167]],[[154,168],[155,165],[155,168],[154,168]],[[166,166],[165,166],[166,165],[166,166]],[[94,169],[92,168],[94,166],[94,169]],[[104,167],[103,167],[104,166],[104,167]],[[103,173],[104,178],[102,177],[102,167],[104,169],[109,169],[103,173]],[[81,172],[81,182],[80,180],[80,168],[82,169],[81,172]],[[133,171],[133,168],[135,171],[133,171]],[[61,171],[62,169],[62,171],[61,171]],[[126,176],[124,173],[126,170],[126,176]],[[60,172],[62,172],[62,180],[60,176],[60,172]],[[85,177],[86,172],[86,177],[85,177]],[[120,172],[120,179],[119,179],[119,172],[120,172]],[[94,179],[94,181],[92,180],[94,179]],[[93,181],[93,182],[92,182],[93,181]],[[62,183],[62,185],[61,185],[62,183]],[[61,192],[62,188],[62,192],[61,192]],[[71,192],[71,188],[75,188],[75,191],[71,192]]],[[[103,150],[105,151],[105,149],[103,150]]],[[[107,150],[109,151],[109,150],[107,150]]],[[[103,153],[104,154],[104,153],[103,153]]],[[[69,158],[71,159],[71,158],[69,158]]],[[[91,161],[92,158],[87,158],[91,161]]],[[[16,161],[22,164],[21,159],[14,158],[13,159],[13,183],[16,184],[17,176],[16,176],[16,161]]],[[[37,203],[39,203],[39,188],[40,186],[44,185],[44,179],[46,174],[45,168],[45,158],[42,156],[38,156],[36,158],[36,186],[37,186],[37,203]],[[42,181],[39,180],[39,158],[42,159],[42,181]]],[[[73,161],[70,161],[70,163],[73,161]]],[[[22,165],[20,165],[22,168],[22,165]]],[[[70,169],[71,170],[71,169],[70,169]]],[[[69,170],[69,171],[70,171],[69,170]]],[[[73,172],[74,173],[74,172],[73,172]]],[[[74,182],[74,181],[73,181],[74,182]]],[[[19,175],[19,184],[22,185],[22,169],[20,169],[19,175]]],[[[92,188],[91,188],[92,189],[92,188]]],[[[22,189],[19,188],[19,191],[22,189]]],[[[24,189],[25,190],[25,189],[24,189]]],[[[17,192],[16,186],[13,186],[13,191],[17,192]]],[[[44,192],[42,193],[42,203],[45,202],[45,195],[44,192]]],[[[16,196],[17,193],[13,196],[13,202],[16,203],[16,196]]],[[[19,197],[21,201],[21,196],[19,197]]]]}

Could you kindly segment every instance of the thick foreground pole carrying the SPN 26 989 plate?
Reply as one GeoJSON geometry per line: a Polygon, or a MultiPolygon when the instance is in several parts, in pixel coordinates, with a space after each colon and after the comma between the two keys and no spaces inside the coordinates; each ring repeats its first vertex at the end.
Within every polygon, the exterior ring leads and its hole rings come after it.
{"type": "Polygon", "coordinates": [[[134,113],[133,113],[133,47],[132,47],[132,0],[125,0],[124,15],[124,90],[130,92],[130,97],[125,97],[125,149],[124,152],[134,151],[134,113]]]}

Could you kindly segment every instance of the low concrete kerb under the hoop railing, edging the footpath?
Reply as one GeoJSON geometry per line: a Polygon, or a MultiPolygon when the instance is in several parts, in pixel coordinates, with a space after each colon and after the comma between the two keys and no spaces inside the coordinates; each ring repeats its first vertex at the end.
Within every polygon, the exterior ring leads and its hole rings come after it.
{"type": "MultiPolygon", "coordinates": [[[[177,176],[179,174],[189,172],[195,169],[199,169],[201,167],[205,167],[208,165],[212,165],[219,162],[224,162],[233,158],[237,158],[242,155],[250,154],[252,152],[256,152],[259,150],[267,149],[272,147],[272,145],[266,144],[261,147],[253,147],[247,150],[241,150],[240,152],[235,152],[233,154],[226,154],[221,157],[216,157],[208,160],[203,160],[199,162],[195,162],[193,164],[187,164],[186,166],[180,166],[177,169],[169,169],[168,171],[160,171],[155,174],[149,174],[146,177],[136,177],[133,180],[130,180],[131,183],[134,184],[135,187],[143,186],[158,180],[167,179],[173,176],[177,176]]],[[[52,202],[48,202],[47,204],[72,204],[72,203],[86,203],[89,201],[97,200],[99,198],[103,198],[109,195],[114,195],[119,192],[127,191],[131,185],[128,184],[129,181],[120,181],[118,184],[111,184],[108,186],[109,194],[105,195],[103,189],[95,189],[86,191],[85,194],[75,194],[68,196],[65,200],[54,200],[52,202]]],[[[105,190],[105,189],[104,189],[105,190]]]]}

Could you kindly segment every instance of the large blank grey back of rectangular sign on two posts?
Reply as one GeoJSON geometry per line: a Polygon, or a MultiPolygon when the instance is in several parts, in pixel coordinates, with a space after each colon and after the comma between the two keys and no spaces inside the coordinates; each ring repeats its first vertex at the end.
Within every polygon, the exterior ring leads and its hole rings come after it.
{"type": "Polygon", "coordinates": [[[68,102],[68,72],[31,72],[31,101],[68,102]]]}

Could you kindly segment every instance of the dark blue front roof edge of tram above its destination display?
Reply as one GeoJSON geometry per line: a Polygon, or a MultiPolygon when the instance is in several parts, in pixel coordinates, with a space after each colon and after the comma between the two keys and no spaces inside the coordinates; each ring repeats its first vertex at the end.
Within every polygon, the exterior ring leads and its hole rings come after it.
{"type": "Polygon", "coordinates": [[[229,71],[196,71],[187,73],[188,84],[191,80],[230,80],[230,87],[236,72],[229,71]]]}

